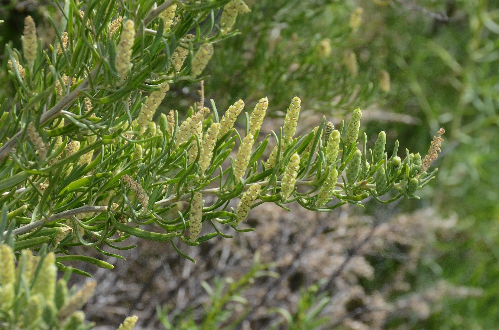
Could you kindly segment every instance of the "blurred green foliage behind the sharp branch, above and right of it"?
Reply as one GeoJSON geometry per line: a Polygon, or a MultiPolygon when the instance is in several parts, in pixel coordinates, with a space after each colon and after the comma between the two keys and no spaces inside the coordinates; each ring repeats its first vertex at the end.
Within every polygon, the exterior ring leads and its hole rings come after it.
{"type": "MultiPolygon", "coordinates": [[[[0,24],[0,43],[18,42],[25,15],[37,20],[37,14],[38,23],[47,11],[55,12],[42,1],[1,2],[0,19],[5,23],[0,24]]],[[[458,229],[452,239],[442,237],[435,243],[440,254],[420,265],[414,281],[424,287],[442,276],[456,285],[483,288],[484,295],[449,298],[424,325],[413,327],[494,329],[499,324],[498,3],[246,2],[252,12],[238,17],[241,34],[216,45],[206,71],[207,98],[216,100],[222,112],[238,98],[250,109],[266,95],[269,113],[279,117],[286,103],[299,95],[301,121],[310,121],[310,126],[315,126],[317,114],[338,123],[360,106],[369,121],[364,126],[368,137],[375,139],[374,133],[385,130],[388,141],[402,142],[401,154],[405,148],[424,154],[436,131],[445,128],[437,179],[421,191],[421,200],[397,207],[410,211],[430,206],[444,216],[457,214],[458,229]],[[351,16],[358,7],[362,22],[352,29],[351,16]],[[324,53],[326,43],[330,53],[324,53]],[[346,65],[349,52],[356,55],[356,75],[346,65]],[[388,93],[380,89],[382,70],[391,78],[388,93]]],[[[4,58],[1,63],[5,68],[4,58]]],[[[196,88],[187,83],[172,88],[164,111],[184,110],[197,101],[196,88]]],[[[375,210],[367,207],[367,212],[375,210]]],[[[376,278],[391,267],[376,265],[376,278]]]]}

